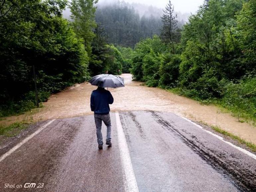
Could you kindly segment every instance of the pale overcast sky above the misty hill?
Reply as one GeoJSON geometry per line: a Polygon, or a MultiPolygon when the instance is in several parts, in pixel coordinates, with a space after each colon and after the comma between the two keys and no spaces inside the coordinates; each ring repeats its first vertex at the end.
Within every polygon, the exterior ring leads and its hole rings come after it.
{"type": "MultiPolygon", "coordinates": [[[[109,2],[111,0],[99,0],[101,2],[109,2]]],[[[141,3],[146,5],[152,5],[154,7],[158,7],[164,9],[169,0],[124,0],[129,3],[141,3]]],[[[203,4],[203,0],[171,0],[174,5],[174,10],[176,12],[182,13],[195,13],[200,5],[203,4]]]]}

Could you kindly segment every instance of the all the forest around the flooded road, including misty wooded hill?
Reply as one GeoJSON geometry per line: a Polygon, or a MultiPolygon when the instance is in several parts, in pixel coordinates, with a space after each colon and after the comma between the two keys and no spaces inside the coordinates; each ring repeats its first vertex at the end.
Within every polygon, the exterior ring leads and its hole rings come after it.
{"type": "Polygon", "coordinates": [[[93,75],[131,72],[256,120],[255,0],[205,0],[184,25],[171,1],[159,17],[117,2],[2,1],[0,117],[35,108],[35,85],[43,102],[93,75]]]}

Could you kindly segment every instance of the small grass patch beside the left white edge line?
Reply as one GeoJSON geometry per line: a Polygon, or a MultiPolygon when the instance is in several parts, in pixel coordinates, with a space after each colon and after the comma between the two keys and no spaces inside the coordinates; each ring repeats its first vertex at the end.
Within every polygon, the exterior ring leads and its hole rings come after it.
{"type": "Polygon", "coordinates": [[[0,135],[3,137],[14,137],[18,135],[23,129],[27,128],[29,124],[23,122],[15,122],[8,126],[0,125],[0,135]]]}

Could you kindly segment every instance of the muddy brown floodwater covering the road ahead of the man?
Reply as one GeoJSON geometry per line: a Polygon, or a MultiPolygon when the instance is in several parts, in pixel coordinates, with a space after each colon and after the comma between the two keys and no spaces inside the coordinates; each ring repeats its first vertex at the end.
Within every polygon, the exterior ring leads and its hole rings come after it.
{"type": "MultiPolygon", "coordinates": [[[[201,105],[192,99],[178,96],[160,88],[142,86],[132,81],[131,74],[122,74],[125,87],[109,88],[114,97],[111,111],[160,111],[172,112],[188,119],[204,122],[240,136],[256,144],[256,128],[248,123],[238,122],[237,118],[223,113],[213,105],[201,105]]],[[[24,115],[5,118],[0,124],[15,121],[41,121],[90,115],[90,94],[96,87],[90,83],[75,84],[64,91],[52,95],[43,108],[35,109],[24,115]]]]}

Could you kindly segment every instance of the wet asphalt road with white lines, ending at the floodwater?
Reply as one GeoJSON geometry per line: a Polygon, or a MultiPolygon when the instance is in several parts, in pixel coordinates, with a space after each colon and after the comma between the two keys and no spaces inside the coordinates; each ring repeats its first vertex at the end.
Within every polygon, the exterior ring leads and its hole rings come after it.
{"type": "Polygon", "coordinates": [[[39,123],[0,150],[0,191],[256,190],[253,156],[188,120],[153,111],[111,120],[112,147],[103,150],[93,116],[39,123]]]}

